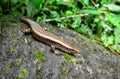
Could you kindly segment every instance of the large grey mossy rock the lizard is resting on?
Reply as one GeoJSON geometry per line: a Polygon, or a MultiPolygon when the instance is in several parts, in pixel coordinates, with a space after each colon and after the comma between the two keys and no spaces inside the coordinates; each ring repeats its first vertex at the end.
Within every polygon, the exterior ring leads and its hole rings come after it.
{"type": "MultiPolygon", "coordinates": [[[[2,16],[0,79],[120,79],[120,57],[72,30],[45,26],[77,46],[81,54],[56,55],[50,46],[23,34],[16,16],[2,16]]],[[[58,50],[59,51],[59,50],[58,50]]],[[[61,52],[61,51],[59,51],[61,52]]]]}

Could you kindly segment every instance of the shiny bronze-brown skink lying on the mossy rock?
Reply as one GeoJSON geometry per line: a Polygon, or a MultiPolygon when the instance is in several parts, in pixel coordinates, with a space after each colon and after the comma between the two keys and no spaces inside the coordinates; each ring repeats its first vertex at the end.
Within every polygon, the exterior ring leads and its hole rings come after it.
{"type": "Polygon", "coordinates": [[[71,45],[62,37],[56,36],[55,34],[46,31],[38,23],[32,21],[31,19],[22,17],[21,20],[27,23],[31,27],[31,29],[25,30],[24,32],[31,32],[33,36],[39,41],[42,41],[44,43],[51,45],[53,52],[55,52],[55,48],[57,48],[59,50],[62,50],[70,54],[80,53],[80,50],[77,47],[71,45]]]}

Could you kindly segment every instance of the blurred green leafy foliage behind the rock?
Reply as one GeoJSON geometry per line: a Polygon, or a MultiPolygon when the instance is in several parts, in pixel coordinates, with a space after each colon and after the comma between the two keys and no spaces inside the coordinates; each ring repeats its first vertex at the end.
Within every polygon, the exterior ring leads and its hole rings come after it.
{"type": "Polygon", "coordinates": [[[0,4],[0,15],[22,14],[67,27],[120,54],[120,0],[1,0],[0,4]]]}

